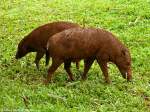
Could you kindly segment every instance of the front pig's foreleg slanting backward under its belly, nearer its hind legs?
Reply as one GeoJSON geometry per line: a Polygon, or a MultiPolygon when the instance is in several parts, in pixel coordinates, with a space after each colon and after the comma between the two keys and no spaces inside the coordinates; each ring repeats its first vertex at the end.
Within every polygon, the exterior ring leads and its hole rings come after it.
{"type": "Polygon", "coordinates": [[[92,63],[94,62],[94,59],[85,59],[84,60],[84,72],[83,72],[83,75],[82,75],[82,80],[86,80],[87,79],[87,73],[92,65],[92,63]]]}

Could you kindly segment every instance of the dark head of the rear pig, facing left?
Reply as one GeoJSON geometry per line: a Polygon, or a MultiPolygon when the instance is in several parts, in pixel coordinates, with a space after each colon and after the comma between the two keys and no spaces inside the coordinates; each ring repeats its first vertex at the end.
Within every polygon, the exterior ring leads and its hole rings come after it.
{"type": "Polygon", "coordinates": [[[20,59],[23,56],[25,56],[28,52],[28,46],[25,44],[25,40],[23,39],[18,45],[18,50],[16,52],[15,58],[20,59]]]}

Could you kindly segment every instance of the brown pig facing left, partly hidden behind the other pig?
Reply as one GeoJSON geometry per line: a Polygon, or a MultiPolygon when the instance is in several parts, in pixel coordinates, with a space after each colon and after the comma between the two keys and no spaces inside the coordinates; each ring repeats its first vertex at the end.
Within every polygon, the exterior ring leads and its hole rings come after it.
{"type": "MultiPolygon", "coordinates": [[[[34,29],[19,43],[16,59],[22,58],[29,52],[37,52],[34,62],[36,67],[39,68],[39,61],[44,56],[44,54],[46,54],[46,44],[49,37],[72,27],[79,27],[79,25],[75,23],[59,21],[48,23],[34,29]]],[[[46,65],[48,65],[48,63],[49,57],[46,55],[46,65]]],[[[79,67],[78,62],[76,66],[77,68],[79,67]]]]}

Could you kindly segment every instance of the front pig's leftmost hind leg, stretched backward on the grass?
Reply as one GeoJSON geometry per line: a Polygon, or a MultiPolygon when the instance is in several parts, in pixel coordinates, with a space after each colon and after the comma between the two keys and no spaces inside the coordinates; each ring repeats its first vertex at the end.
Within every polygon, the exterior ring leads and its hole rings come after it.
{"type": "Polygon", "coordinates": [[[58,59],[58,58],[52,58],[52,65],[49,67],[48,69],[48,75],[47,75],[47,79],[44,82],[45,84],[48,84],[51,79],[52,79],[52,75],[53,73],[56,71],[56,69],[63,63],[63,60],[58,59]]]}

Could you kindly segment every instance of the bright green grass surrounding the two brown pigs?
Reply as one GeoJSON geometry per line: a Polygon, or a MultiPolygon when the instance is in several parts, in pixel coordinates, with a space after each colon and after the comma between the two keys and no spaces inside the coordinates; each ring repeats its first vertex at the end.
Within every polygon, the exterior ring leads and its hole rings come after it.
{"type": "Polygon", "coordinates": [[[148,112],[150,111],[150,1],[149,0],[1,0],[0,1],[0,111],[148,112]],[[130,49],[133,81],[127,83],[110,65],[112,84],[104,83],[95,62],[88,79],[72,64],[76,81],[67,83],[61,66],[55,83],[44,86],[30,53],[14,59],[19,41],[39,25],[65,20],[107,29],[130,49]]]}

